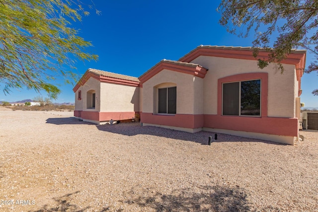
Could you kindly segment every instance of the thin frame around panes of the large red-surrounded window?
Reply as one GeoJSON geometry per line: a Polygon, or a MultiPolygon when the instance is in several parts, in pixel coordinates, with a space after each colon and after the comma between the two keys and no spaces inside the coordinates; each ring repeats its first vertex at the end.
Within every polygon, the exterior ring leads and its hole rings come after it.
{"type": "Polygon", "coordinates": [[[221,98],[221,114],[222,116],[235,116],[235,117],[262,117],[262,78],[254,78],[254,79],[243,79],[243,80],[237,80],[237,81],[229,81],[229,82],[222,82],[222,98],[221,98]],[[256,81],[259,80],[259,115],[241,115],[241,82],[246,82],[246,81],[256,81]],[[229,84],[229,83],[237,83],[239,82],[239,115],[225,115],[224,114],[224,84],[229,84]]]}

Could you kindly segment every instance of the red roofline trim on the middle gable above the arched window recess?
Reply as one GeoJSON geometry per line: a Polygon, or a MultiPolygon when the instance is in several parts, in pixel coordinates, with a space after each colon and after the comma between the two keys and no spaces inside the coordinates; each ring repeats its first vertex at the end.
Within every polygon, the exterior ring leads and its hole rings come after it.
{"type": "Polygon", "coordinates": [[[152,69],[150,69],[149,71],[147,71],[143,75],[141,75],[139,77],[139,80],[141,81],[141,83],[144,83],[164,69],[171,70],[171,71],[177,71],[177,72],[181,72],[181,73],[186,73],[186,74],[191,74],[191,75],[198,76],[201,78],[204,78],[205,74],[207,73],[207,70],[203,67],[200,67],[200,66],[188,67],[188,66],[182,66],[182,65],[177,65],[177,64],[164,63],[164,61],[161,61],[159,64],[154,66],[152,69]]]}

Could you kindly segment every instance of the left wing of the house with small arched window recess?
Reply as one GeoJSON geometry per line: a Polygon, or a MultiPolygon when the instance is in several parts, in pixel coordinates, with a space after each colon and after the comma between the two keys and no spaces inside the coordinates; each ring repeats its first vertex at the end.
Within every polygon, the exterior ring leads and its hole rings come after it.
{"type": "Polygon", "coordinates": [[[109,120],[132,119],[140,108],[137,77],[88,69],[73,88],[74,116],[103,124],[109,120]]]}

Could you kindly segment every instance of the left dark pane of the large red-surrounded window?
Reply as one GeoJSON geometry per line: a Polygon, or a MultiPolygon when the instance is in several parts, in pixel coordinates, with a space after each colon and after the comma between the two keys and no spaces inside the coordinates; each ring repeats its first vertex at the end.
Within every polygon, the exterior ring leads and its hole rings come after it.
{"type": "Polygon", "coordinates": [[[223,84],[223,115],[239,116],[239,82],[223,84]]]}

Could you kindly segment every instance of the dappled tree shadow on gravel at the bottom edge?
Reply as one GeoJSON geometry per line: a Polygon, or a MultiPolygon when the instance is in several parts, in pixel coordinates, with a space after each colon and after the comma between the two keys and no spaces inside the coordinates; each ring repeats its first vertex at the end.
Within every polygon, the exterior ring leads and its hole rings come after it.
{"type": "Polygon", "coordinates": [[[147,211],[150,208],[156,212],[249,212],[247,193],[242,188],[228,188],[225,186],[202,186],[201,192],[196,189],[173,190],[170,194],[154,193],[152,189],[135,191],[132,188],[129,196],[131,200],[121,202],[129,205],[138,205],[147,211]],[[143,193],[142,196],[136,193],[143,193]],[[134,198],[134,196],[137,196],[134,198]]]}

